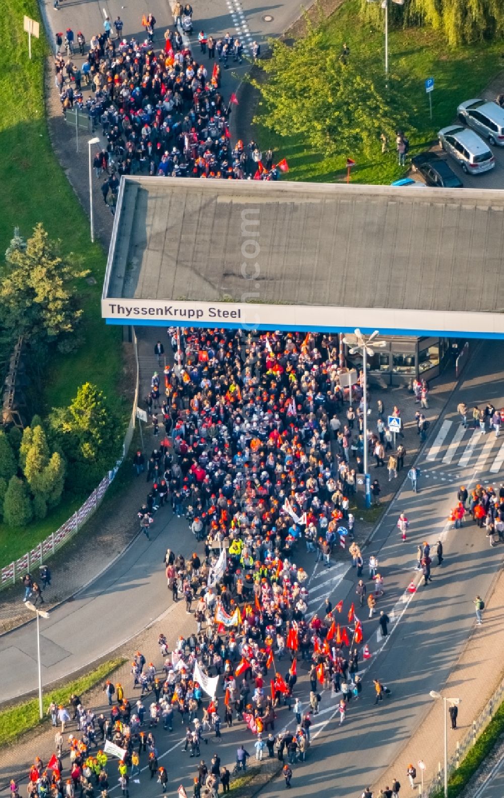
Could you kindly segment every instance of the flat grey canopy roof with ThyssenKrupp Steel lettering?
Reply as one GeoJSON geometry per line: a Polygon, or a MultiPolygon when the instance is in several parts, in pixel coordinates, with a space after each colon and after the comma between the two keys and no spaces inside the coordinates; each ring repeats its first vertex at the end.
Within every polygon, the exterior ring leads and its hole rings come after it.
{"type": "MultiPolygon", "coordinates": [[[[102,306],[254,302],[285,306],[277,326],[297,307],[337,310],[335,329],[448,334],[467,322],[500,337],[503,258],[503,191],[128,177],[102,306]]],[[[258,326],[275,328],[270,310],[258,326]]]]}

